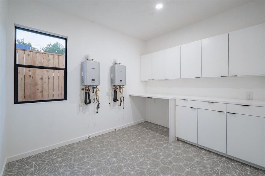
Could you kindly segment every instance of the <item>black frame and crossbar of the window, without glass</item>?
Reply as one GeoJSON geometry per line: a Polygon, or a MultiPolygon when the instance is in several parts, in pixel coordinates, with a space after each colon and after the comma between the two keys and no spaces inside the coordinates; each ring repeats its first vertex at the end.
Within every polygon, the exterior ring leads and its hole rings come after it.
{"type": "Polygon", "coordinates": [[[52,34],[47,34],[39,31],[34,31],[31,29],[27,28],[21,28],[18,26],[15,26],[15,42],[14,42],[15,48],[14,48],[14,104],[23,104],[23,103],[37,103],[37,102],[48,102],[48,101],[63,101],[67,100],[67,38],[52,35],[52,34]],[[49,37],[54,37],[54,38],[59,38],[65,40],[65,63],[64,63],[64,68],[60,67],[46,67],[46,66],[37,66],[37,65],[22,65],[22,64],[17,64],[16,63],[16,30],[23,30],[23,31],[28,31],[31,33],[36,33],[36,34],[41,34],[41,35],[46,35],[49,37]],[[46,99],[46,100],[30,100],[30,101],[18,101],[18,69],[19,67],[24,67],[24,68],[38,68],[38,69],[49,69],[49,70],[64,70],[64,98],[62,99],[46,99]]]}

